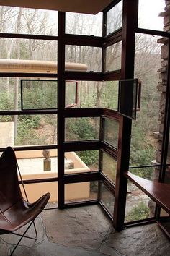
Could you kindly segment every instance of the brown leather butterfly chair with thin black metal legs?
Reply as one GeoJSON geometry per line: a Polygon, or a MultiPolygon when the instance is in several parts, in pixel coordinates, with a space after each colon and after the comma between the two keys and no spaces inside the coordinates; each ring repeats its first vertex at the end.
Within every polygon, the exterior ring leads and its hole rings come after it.
{"type": "MultiPolygon", "coordinates": [[[[25,192],[26,200],[22,197],[22,192],[19,187],[17,158],[14,150],[7,147],[0,158],[0,234],[16,234],[21,236],[19,242],[23,237],[30,239],[37,239],[37,231],[34,220],[41,213],[47,204],[50,193],[46,193],[40,197],[36,202],[29,203],[27,194],[25,192]],[[20,235],[14,233],[17,229],[29,223],[24,234],[20,235]],[[36,237],[25,236],[31,225],[34,225],[36,237]]],[[[22,181],[22,176],[19,171],[19,176],[22,181]]],[[[22,182],[23,188],[24,184],[22,182]]],[[[19,242],[15,245],[11,252],[17,248],[19,242]]]]}

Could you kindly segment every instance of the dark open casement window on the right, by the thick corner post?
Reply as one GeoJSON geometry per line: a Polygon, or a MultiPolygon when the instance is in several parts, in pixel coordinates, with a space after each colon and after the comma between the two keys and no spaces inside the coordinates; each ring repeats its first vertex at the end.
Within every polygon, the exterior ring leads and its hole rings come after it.
{"type": "Polygon", "coordinates": [[[140,110],[141,82],[138,79],[119,81],[118,112],[130,119],[136,119],[136,112],[140,110]]]}

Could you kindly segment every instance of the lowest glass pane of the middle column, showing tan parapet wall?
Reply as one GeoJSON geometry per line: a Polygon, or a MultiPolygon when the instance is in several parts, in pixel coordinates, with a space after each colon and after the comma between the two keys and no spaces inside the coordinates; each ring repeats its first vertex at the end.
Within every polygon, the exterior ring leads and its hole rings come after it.
{"type": "Polygon", "coordinates": [[[98,182],[65,184],[65,203],[97,200],[98,182]]]}

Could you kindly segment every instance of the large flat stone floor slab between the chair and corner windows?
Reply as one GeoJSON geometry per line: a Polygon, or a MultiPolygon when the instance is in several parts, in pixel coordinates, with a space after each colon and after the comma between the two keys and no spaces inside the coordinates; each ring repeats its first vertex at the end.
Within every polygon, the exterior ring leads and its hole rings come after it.
{"type": "Polygon", "coordinates": [[[112,226],[97,205],[51,210],[50,214],[52,218],[47,217],[47,210],[42,213],[49,241],[69,247],[97,249],[112,226]]]}

